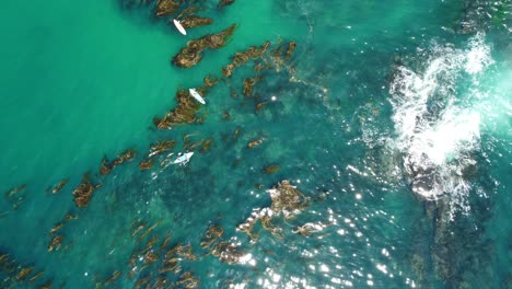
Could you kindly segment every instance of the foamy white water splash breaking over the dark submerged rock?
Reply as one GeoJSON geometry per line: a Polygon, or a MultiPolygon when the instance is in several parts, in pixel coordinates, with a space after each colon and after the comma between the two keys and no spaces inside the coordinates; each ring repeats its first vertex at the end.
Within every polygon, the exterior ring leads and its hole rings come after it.
{"type": "Polygon", "coordinates": [[[480,79],[492,63],[485,35],[469,39],[467,49],[433,45],[423,71],[400,66],[391,84],[393,120],[412,190],[426,199],[447,196],[452,215],[467,212],[472,184],[465,171],[480,149],[480,79]],[[470,88],[463,85],[469,83],[470,88]]]}

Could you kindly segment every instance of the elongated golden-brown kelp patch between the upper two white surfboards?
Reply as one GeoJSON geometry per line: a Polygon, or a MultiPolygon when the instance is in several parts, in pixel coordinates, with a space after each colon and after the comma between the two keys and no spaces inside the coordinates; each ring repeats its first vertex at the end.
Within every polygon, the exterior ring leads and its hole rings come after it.
{"type": "Polygon", "coordinates": [[[223,47],[233,34],[235,27],[236,25],[232,24],[217,34],[208,34],[201,38],[188,42],[187,46],[182,48],[182,50],[179,50],[179,53],[173,58],[173,63],[182,68],[194,67],[202,59],[201,54],[203,50],[223,47]]]}

